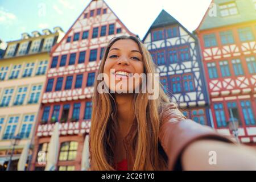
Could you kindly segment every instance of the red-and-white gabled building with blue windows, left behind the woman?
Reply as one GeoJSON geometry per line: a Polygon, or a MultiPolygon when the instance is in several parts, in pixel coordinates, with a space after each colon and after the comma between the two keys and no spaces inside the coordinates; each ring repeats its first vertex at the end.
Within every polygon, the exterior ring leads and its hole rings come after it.
{"type": "Polygon", "coordinates": [[[51,52],[35,132],[31,170],[44,170],[38,152],[47,155],[56,122],[60,148],[56,169],[80,170],[85,135],[89,133],[93,83],[104,48],[115,36],[133,35],[102,0],[91,1],[51,52]]]}

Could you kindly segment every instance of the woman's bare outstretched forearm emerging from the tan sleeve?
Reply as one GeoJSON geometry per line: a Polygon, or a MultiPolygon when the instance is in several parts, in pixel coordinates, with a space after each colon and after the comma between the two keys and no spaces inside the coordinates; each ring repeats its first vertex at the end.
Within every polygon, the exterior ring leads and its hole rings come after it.
{"type": "Polygon", "coordinates": [[[197,140],[181,155],[183,170],[256,170],[256,150],[218,140],[197,140]]]}

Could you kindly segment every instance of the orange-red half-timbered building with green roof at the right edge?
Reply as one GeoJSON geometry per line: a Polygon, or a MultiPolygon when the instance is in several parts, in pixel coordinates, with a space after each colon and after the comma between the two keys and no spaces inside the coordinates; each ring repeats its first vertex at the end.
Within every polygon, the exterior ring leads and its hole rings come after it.
{"type": "Polygon", "coordinates": [[[256,142],[256,1],[214,0],[196,33],[200,40],[214,128],[256,142]]]}

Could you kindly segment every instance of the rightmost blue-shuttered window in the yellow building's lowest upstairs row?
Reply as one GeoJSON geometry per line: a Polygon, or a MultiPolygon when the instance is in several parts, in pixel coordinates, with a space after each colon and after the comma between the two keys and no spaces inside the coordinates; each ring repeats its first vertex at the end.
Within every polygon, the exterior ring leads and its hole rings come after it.
{"type": "Polygon", "coordinates": [[[24,115],[22,121],[22,128],[20,130],[20,138],[29,138],[33,122],[35,121],[35,115],[24,115]]]}

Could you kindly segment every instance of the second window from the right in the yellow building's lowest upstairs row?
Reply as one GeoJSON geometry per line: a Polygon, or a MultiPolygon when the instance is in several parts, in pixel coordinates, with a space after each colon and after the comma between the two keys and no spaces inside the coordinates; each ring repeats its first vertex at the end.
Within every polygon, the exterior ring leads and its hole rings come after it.
{"type": "Polygon", "coordinates": [[[10,117],[8,119],[8,123],[5,129],[5,133],[3,134],[3,139],[7,140],[7,139],[13,139],[14,135],[15,135],[15,131],[16,131],[16,127],[18,125],[19,122],[19,117],[10,117]]]}

